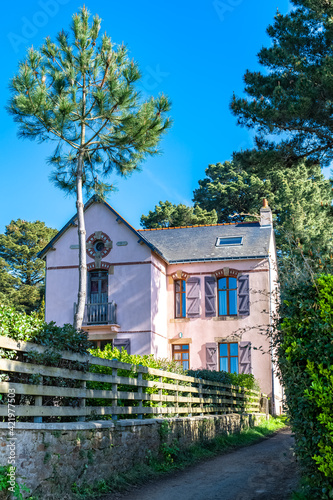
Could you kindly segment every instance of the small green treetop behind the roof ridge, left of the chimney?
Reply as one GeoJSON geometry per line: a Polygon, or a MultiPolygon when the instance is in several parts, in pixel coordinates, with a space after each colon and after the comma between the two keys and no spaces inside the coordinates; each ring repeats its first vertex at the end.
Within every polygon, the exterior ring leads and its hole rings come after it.
{"type": "Polygon", "coordinates": [[[207,211],[199,206],[188,207],[160,201],[155,210],[150,210],[148,215],[142,215],[140,223],[146,229],[216,224],[217,214],[215,210],[207,211]]]}

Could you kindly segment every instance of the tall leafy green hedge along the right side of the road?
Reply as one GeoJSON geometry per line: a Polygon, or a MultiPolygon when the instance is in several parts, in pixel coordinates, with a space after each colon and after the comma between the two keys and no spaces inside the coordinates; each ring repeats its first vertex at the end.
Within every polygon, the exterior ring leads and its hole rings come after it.
{"type": "Polygon", "coordinates": [[[284,291],[275,331],[306,498],[333,498],[333,276],[284,291]]]}

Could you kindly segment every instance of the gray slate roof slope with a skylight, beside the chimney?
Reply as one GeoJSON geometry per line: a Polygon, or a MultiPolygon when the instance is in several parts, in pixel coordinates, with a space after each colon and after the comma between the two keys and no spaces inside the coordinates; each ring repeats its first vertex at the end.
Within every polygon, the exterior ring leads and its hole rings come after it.
{"type": "Polygon", "coordinates": [[[138,233],[169,263],[178,263],[267,257],[271,230],[271,226],[255,222],[138,230],[138,233]],[[217,238],[226,236],[242,236],[242,245],[215,245],[217,238]]]}

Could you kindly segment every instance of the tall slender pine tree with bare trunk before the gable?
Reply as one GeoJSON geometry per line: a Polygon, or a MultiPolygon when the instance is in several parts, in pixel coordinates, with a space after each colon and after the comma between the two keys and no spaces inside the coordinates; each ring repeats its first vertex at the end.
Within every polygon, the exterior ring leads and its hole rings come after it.
{"type": "Polygon", "coordinates": [[[161,135],[170,126],[164,95],[143,102],[135,90],[137,64],[124,45],[99,36],[101,20],[90,22],[83,7],[73,16],[70,32],[56,42],[47,38],[31,48],[11,81],[8,110],[19,135],[54,140],[50,158],[55,184],[76,195],[79,238],[79,291],[75,327],[80,328],[86,299],[86,230],[83,188],[100,197],[112,189],[115,171],[131,174],[148,156],[158,154],[161,135]]]}

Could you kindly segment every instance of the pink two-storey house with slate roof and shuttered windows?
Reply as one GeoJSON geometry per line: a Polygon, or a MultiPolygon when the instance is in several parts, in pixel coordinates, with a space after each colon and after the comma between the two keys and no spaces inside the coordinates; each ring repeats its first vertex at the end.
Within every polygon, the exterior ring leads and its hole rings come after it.
{"type": "MultiPolygon", "coordinates": [[[[184,368],[253,373],[281,411],[268,329],[276,251],[267,203],[260,222],[136,230],[110,205],[85,205],[84,326],[99,347],[179,360],[184,368]]],[[[78,289],[74,216],[41,252],[46,320],[73,323],[78,289]]]]}

